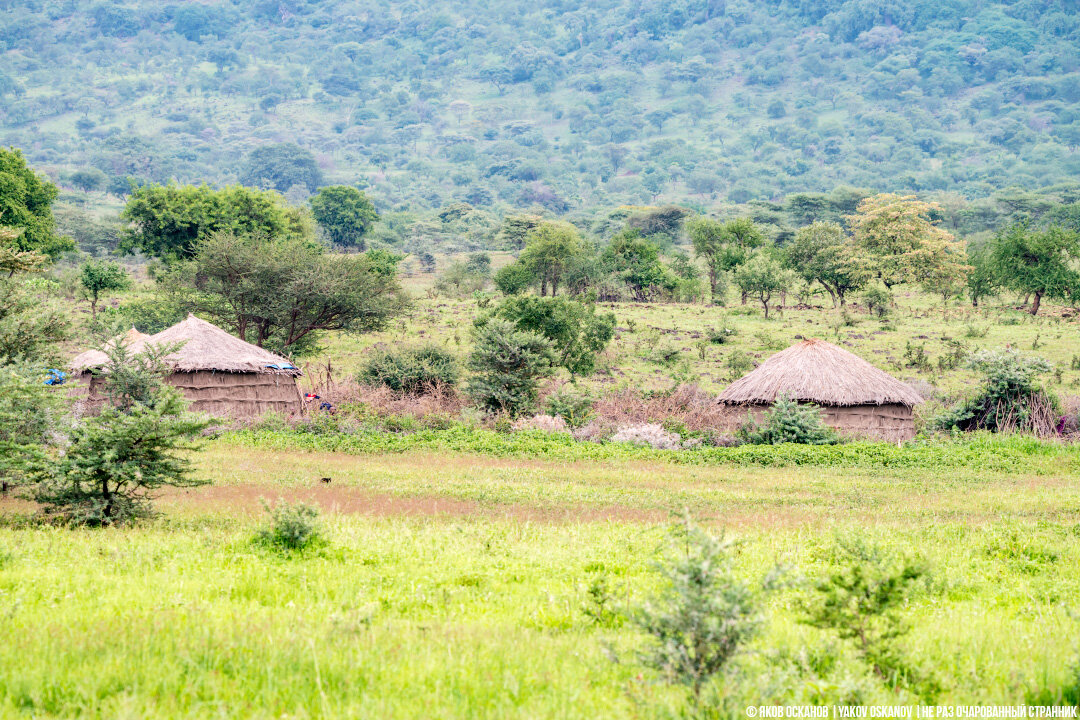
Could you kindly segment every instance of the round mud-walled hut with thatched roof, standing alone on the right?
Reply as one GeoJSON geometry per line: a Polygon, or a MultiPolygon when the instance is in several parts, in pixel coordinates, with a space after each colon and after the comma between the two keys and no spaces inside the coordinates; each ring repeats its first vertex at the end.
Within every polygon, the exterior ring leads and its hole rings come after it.
{"type": "Polygon", "coordinates": [[[804,340],[761,363],[720,393],[721,405],[760,417],[779,397],[813,403],[842,435],[893,443],[915,437],[912,408],[922,398],[862,357],[823,340],[804,340]]]}

